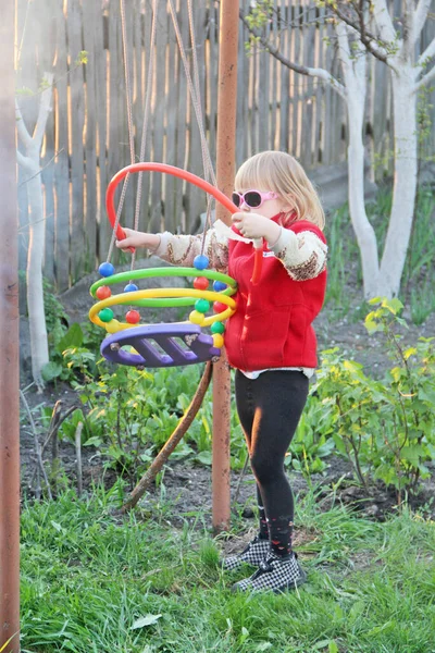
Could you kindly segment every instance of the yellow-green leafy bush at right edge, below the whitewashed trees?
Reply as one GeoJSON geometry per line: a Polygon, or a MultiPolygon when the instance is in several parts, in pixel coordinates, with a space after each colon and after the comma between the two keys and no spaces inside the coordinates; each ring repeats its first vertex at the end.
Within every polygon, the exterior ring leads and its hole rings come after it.
{"type": "MultiPolygon", "coordinates": [[[[425,463],[435,457],[435,338],[420,338],[402,349],[397,324],[402,304],[375,298],[365,318],[370,333],[383,333],[394,367],[382,381],[362,366],[344,359],[337,348],[323,352],[315,393],[327,417],[337,451],[352,464],[356,478],[370,493],[377,479],[397,491],[415,492],[427,478],[425,463]]],[[[326,419],[326,416],[324,417],[326,419]]]]}

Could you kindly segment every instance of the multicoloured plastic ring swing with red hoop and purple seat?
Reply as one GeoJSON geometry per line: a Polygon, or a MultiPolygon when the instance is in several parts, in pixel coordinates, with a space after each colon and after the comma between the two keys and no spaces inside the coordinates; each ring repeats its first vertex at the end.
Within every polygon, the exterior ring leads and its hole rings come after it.
{"type": "MultiPolygon", "coordinates": [[[[235,213],[237,207],[217,188],[196,175],[163,163],[136,163],[121,170],[109,184],[107,211],[112,227],[116,224],[114,195],[119,183],[133,172],[164,172],[181,177],[210,193],[228,211],[235,213]]],[[[116,225],[119,241],[125,238],[125,232],[116,225]]],[[[134,251],[134,249],[132,249],[134,251]]],[[[142,367],[171,367],[201,362],[220,355],[224,344],[224,320],[232,317],[236,303],[232,295],[237,284],[231,276],[204,269],[208,259],[203,255],[196,258],[195,268],[152,268],[114,274],[114,268],[107,262],[100,266],[103,279],[91,288],[92,297],[100,299],[89,311],[89,319],[108,332],[101,344],[101,354],[109,360],[142,367]],[[199,259],[199,260],[198,260],[199,259]],[[133,280],[152,276],[195,276],[194,288],[153,288],[139,289],[133,280]],[[213,281],[213,291],[209,289],[213,281]],[[111,285],[127,283],[124,293],[112,296],[111,285]],[[214,316],[206,317],[213,303],[214,316]],[[111,307],[117,305],[145,307],[175,307],[195,305],[188,322],[175,324],[138,324],[140,316],[136,310],[126,313],[126,321],[114,318],[111,307]],[[201,332],[201,326],[210,326],[212,335],[201,332]]],[[[262,266],[261,248],[256,246],[252,283],[257,283],[262,266]]]]}

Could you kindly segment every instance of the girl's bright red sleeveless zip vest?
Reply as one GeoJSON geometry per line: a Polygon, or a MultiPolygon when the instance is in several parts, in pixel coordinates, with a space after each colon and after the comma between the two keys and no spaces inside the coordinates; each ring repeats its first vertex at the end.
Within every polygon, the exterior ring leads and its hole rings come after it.
{"type": "MultiPolygon", "coordinates": [[[[298,220],[288,229],[295,233],[312,231],[325,243],[321,230],[307,220],[298,220]]],[[[237,310],[225,331],[229,365],[247,372],[277,367],[315,368],[316,338],[311,324],[323,305],[326,270],[315,279],[295,281],[266,245],[263,251],[261,279],[252,285],[252,245],[229,241],[228,274],[238,284],[234,296],[237,310]]]]}

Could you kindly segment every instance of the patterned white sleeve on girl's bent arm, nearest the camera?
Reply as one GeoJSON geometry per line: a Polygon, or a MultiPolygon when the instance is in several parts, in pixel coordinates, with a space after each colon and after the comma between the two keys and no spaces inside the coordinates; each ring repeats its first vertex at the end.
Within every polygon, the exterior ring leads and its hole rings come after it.
{"type": "Polygon", "coordinates": [[[270,249],[295,281],[314,279],[326,267],[327,246],[312,231],[296,234],[282,227],[278,239],[270,249]]]}

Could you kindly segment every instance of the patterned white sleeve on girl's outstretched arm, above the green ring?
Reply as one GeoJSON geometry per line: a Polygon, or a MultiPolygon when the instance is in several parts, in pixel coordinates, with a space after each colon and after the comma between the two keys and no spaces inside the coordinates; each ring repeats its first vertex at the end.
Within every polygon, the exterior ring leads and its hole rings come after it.
{"type": "MultiPolygon", "coordinates": [[[[198,254],[202,254],[202,234],[185,236],[163,232],[159,236],[159,247],[151,250],[151,254],[156,254],[159,258],[173,266],[187,266],[191,268],[195,257],[198,254]]],[[[210,269],[217,272],[227,272],[228,239],[225,235],[217,233],[214,229],[209,229],[206,233],[203,254],[209,257],[210,269]]]]}

